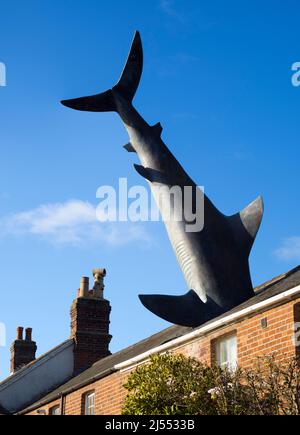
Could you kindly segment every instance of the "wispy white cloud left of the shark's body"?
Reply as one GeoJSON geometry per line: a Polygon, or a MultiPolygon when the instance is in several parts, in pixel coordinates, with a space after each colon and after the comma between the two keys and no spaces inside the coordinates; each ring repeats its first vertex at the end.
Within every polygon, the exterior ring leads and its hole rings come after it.
{"type": "Polygon", "coordinates": [[[150,242],[140,223],[99,222],[96,206],[80,200],[45,204],[0,219],[0,236],[28,234],[53,244],[75,246],[98,242],[109,245],[150,242]]]}

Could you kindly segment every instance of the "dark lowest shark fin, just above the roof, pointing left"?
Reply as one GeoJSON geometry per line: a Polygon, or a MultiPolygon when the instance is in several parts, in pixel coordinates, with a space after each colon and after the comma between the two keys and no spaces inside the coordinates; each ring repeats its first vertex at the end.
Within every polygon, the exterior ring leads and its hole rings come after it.
{"type": "Polygon", "coordinates": [[[139,295],[139,298],[148,310],[175,325],[195,328],[221,314],[211,299],[202,302],[194,290],[183,296],[139,295]]]}

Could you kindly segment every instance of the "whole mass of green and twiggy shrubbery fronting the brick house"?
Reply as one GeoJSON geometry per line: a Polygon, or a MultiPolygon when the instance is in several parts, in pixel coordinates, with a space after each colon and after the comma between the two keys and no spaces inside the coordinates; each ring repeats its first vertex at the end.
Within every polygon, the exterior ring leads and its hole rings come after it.
{"type": "Polygon", "coordinates": [[[251,370],[232,371],[183,355],[153,355],[124,386],[127,415],[300,414],[296,360],[278,364],[268,357],[251,370]]]}

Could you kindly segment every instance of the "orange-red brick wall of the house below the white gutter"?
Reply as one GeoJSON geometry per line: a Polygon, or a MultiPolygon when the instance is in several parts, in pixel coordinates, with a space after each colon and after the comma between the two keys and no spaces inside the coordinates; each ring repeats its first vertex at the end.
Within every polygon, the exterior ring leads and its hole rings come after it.
{"type": "MultiPolygon", "coordinates": [[[[199,358],[210,363],[213,359],[214,340],[222,335],[236,331],[238,342],[238,364],[242,367],[251,367],[256,357],[276,352],[277,358],[296,355],[293,343],[294,321],[300,321],[300,298],[261,314],[252,315],[230,326],[222,327],[217,331],[208,333],[205,337],[186,343],[175,352],[199,358]],[[262,327],[261,320],[267,319],[267,327],[262,327]]],[[[121,413],[122,401],[126,395],[123,383],[128,376],[125,373],[114,373],[84,388],[81,388],[65,398],[65,414],[74,415],[82,412],[82,398],[85,393],[95,391],[95,413],[104,415],[117,415],[121,413]]],[[[59,404],[59,401],[49,403],[42,407],[47,413],[49,409],[59,404]]],[[[37,410],[31,412],[36,414],[37,410]]]]}

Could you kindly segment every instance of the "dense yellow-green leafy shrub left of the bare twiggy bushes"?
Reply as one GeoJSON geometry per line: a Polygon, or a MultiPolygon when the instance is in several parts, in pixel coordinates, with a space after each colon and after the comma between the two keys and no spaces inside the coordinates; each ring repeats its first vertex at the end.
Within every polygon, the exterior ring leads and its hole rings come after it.
{"type": "Polygon", "coordinates": [[[212,373],[196,359],[153,355],[129,376],[123,414],[213,414],[212,373]]]}

